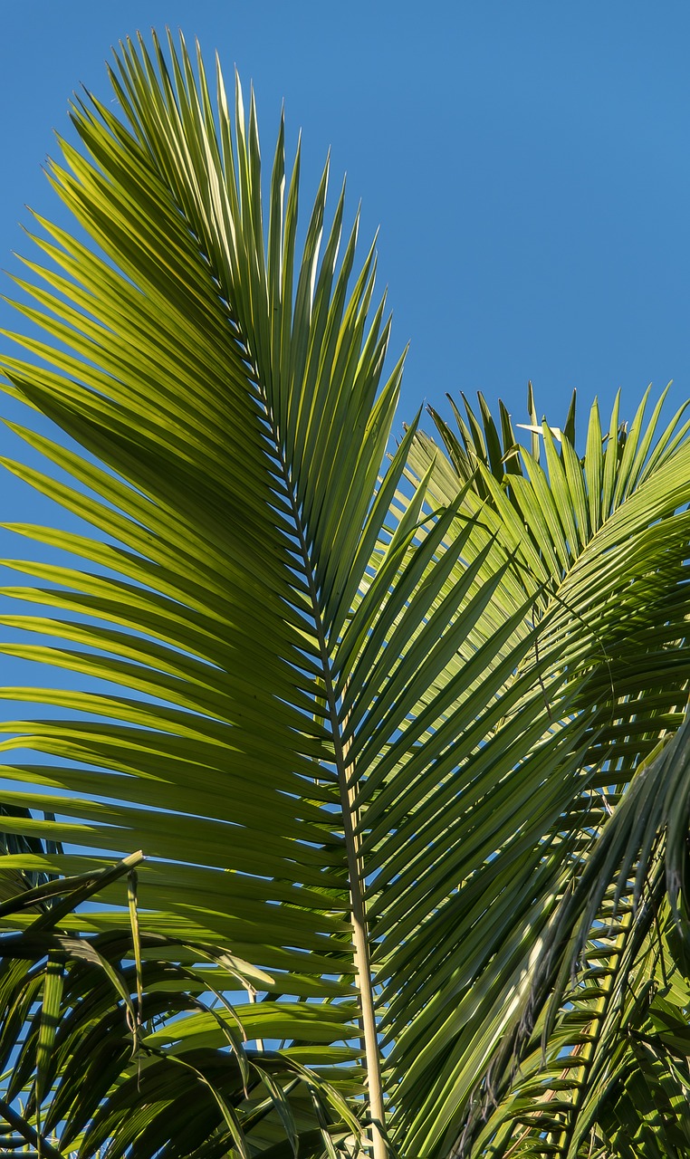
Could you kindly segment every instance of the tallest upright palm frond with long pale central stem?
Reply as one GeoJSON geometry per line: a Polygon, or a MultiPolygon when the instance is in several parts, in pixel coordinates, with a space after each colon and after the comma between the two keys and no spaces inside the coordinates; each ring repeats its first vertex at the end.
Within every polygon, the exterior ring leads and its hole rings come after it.
{"type": "MultiPolygon", "coordinates": [[[[407,760],[415,706],[434,710],[434,687],[420,701],[400,657],[442,673],[492,585],[467,602],[470,569],[440,599],[463,540],[436,573],[451,517],[423,510],[423,487],[399,491],[412,432],[378,478],[400,364],[377,394],[388,325],[383,305],[366,321],[372,253],[348,296],[356,227],[337,264],[342,197],[319,262],[325,174],[297,263],[283,130],[264,226],[253,102],[247,125],[238,87],[233,132],[220,74],[217,123],[201,61],[196,81],[170,45],[170,79],[154,48],[155,66],[143,44],[123,49],[112,78],[126,127],[97,102],[74,110],[90,156],[65,144],[70,168],[52,181],[100,252],[41,223],[52,264],[27,263],[37,306],[19,308],[48,341],[20,337],[41,365],[3,359],[9,393],[87,452],[15,424],[53,471],[6,466],[95,535],[13,529],[82,563],[9,562],[39,585],[6,595],[53,615],[3,624],[55,643],[3,650],[87,684],[5,690],[60,713],[3,726],[6,750],[49,763],[6,766],[17,787],[3,800],[24,812],[1,824],[99,858],[144,847],[143,932],[221,945],[267,972],[242,1025],[317,1079],[336,1064],[384,1154],[359,787],[379,749],[407,760]]],[[[78,860],[38,858],[50,873],[78,860]]],[[[125,921],[116,906],[68,925],[125,921]]]]}

